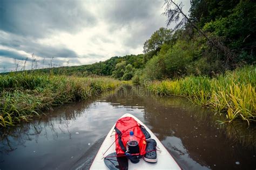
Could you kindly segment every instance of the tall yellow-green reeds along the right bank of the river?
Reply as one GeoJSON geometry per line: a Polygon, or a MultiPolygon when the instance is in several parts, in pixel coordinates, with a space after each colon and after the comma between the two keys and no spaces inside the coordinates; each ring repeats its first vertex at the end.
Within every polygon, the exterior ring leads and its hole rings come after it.
{"type": "Polygon", "coordinates": [[[194,103],[225,114],[227,122],[240,118],[256,120],[256,67],[227,71],[216,78],[188,76],[177,80],[154,81],[147,85],[157,95],[186,96],[194,103]]]}

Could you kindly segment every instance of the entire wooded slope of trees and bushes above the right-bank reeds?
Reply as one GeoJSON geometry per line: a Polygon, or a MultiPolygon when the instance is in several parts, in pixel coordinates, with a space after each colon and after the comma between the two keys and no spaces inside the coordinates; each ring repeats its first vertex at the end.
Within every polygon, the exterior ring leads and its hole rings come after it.
{"type": "MultiPolygon", "coordinates": [[[[256,4],[253,1],[193,0],[190,12],[190,20],[207,32],[215,44],[223,44],[232,51],[232,66],[255,63],[256,4]]],[[[230,69],[226,53],[209,44],[191,29],[190,23],[183,29],[169,30],[168,36],[161,35],[161,31],[164,29],[154,32],[144,44],[145,69],[141,82],[190,74],[214,77],[230,69]],[[161,38],[165,37],[169,41],[163,43],[161,38]]]]}

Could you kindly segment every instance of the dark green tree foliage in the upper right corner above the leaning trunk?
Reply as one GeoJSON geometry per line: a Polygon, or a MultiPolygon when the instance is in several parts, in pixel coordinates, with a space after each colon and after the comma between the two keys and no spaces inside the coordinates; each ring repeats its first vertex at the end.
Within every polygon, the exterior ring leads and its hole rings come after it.
{"type": "Polygon", "coordinates": [[[235,63],[241,61],[251,64],[255,57],[253,51],[256,42],[256,4],[251,1],[240,1],[228,15],[215,18],[205,23],[204,30],[211,36],[221,39],[231,50],[239,56],[234,59],[235,63]],[[247,52],[249,55],[244,56],[247,52]]]}

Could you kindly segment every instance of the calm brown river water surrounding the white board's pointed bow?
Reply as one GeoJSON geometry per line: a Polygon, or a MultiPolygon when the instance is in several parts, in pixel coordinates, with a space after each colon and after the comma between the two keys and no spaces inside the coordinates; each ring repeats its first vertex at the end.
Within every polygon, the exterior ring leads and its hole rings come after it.
{"type": "Polygon", "coordinates": [[[186,98],[154,97],[126,87],[1,130],[0,169],[88,169],[124,113],[142,120],[183,169],[256,168],[254,125],[220,126],[212,111],[186,98]]]}

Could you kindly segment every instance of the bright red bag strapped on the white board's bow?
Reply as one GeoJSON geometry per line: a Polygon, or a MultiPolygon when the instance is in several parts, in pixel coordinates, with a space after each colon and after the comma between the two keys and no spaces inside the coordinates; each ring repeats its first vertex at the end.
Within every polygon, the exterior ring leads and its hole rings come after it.
{"type": "Polygon", "coordinates": [[[138,141],[139,155],[143,156],[146,151],[146,138],[139,123],[132,117],[124,117],[117,120],[116,126],[116,152],[117,155],[124,155],[126,152],[126,144],[130,139],[130,131],[133,131],[134,137],[138,141]]]}

